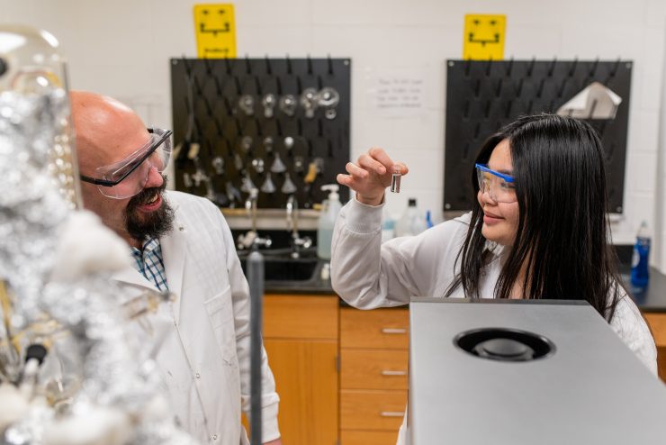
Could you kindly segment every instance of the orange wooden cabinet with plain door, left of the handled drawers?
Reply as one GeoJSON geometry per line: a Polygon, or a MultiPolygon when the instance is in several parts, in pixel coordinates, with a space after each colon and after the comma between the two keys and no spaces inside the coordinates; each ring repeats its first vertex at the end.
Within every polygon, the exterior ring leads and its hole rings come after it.
{"type": "Polygon", "coordinates": [[[338,297],[266,295],[264,346],[284,444],[338,444],[338,297]]]}

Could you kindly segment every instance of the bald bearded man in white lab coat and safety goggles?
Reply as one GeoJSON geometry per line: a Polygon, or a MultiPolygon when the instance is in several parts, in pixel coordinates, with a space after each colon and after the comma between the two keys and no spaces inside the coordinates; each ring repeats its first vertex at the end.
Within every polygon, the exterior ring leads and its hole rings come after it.
{"type": "MultiPolygon", "coordinates": [[[[70,97],[84,206],[134,259],[113,278],[128,295],[175,295],[155,315],[173,326],[156,361],[178,422],[202,443],[247,444],[249,290],[228,224],[208,200],[165,190],[170,131],[111,97],[70,97]]],[[[262,354],[262,441],[277,445],[279,397],[262,354]]]]}

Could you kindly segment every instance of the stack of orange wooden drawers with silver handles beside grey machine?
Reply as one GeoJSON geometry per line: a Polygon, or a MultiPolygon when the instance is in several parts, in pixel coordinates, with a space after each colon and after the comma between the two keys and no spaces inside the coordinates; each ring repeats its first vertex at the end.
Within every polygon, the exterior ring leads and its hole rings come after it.
{"type": "Polygon", "coordinates": [[[407,404],[407,309],[340,310],[341,445],[393,445],[407,404]]]}

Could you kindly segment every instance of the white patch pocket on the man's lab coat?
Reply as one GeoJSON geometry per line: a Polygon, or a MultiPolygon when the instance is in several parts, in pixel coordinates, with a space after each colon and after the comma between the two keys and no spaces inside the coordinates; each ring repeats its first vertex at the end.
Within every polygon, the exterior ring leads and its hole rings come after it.
{"type": "Polygon", "coordinates": [[[221,358],[228,365],[236,360],[236,329],[234,328],[233,304],[231,304],[231,288],[227,287],[220,295],[209,298],[203,305],[220,348],[221,358]]]}

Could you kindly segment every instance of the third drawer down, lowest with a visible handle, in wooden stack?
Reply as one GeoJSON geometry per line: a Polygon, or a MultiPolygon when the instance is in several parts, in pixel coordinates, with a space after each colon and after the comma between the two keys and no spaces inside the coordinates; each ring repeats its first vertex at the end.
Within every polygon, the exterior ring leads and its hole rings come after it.
{"type": "Polygon", "coordinates": [[[407,391],[340,391],[342,430],[398,431],[407,408],[407,391]]]}

